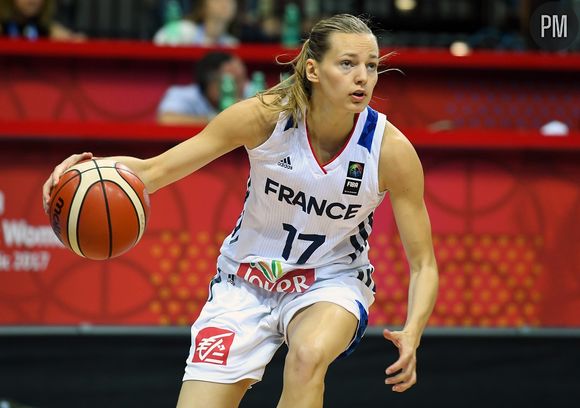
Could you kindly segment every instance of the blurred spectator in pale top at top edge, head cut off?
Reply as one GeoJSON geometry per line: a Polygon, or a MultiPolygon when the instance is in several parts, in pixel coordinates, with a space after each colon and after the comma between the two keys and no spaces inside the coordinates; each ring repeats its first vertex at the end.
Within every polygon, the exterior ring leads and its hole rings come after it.
{"type": "Polygon", "coordinates": [[[159,45],[235,46],[238,39],[228,33],[236,16],[236,0],[201,0],[194,11],[179,21],[171,21],[179,2],[168,2],[166,23],[153,42],[159,45]]]}

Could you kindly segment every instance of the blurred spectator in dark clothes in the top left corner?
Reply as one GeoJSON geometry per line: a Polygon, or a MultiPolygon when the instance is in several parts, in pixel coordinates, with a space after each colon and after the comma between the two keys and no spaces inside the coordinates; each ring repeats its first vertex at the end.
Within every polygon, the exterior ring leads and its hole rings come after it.
{"type": "Polygon", "coordinates": [[[0,0],[0,34],[11,38],[82,40],[54,20],[55,0],[0,0]]]}

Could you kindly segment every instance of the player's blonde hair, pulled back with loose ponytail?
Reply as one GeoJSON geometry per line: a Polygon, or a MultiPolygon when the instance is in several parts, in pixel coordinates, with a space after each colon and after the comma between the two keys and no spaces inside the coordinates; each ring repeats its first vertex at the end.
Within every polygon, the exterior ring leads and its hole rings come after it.
{"type": "MultiPolygon", "coordinates": [[[[260,102],[274,112],[286,112],[296,125],[309,106],[312,95],[312,85],[306,78],[306,61],[310,58],[317,62],[322,61],[330,49],[330,35],[333,33],[373,34],[364,20],[350,14],[337,14],[320,20],[312,27],[309,38],[293,60],[280,62],[277,59],[278,64],[291,66],[293,73],[278,85],[258,93],[260,102]],[[264,100],[266,95],[274,95],[275,98],[271,102],[266,102],[264,100]]],[[[390,55],[381,57],[379,61],[390,55]]]]}

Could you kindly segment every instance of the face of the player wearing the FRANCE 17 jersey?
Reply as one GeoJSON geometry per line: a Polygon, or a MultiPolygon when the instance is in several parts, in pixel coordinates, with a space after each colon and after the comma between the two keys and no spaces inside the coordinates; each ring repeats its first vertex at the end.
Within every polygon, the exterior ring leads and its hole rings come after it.
{"type": "Polygon", "coordinates": [[[372,34],[333,33],[322,61],[308,60],[313,101],[330,102],[339,109],[362,112],[378,80],[379,49],[372,34]]]}

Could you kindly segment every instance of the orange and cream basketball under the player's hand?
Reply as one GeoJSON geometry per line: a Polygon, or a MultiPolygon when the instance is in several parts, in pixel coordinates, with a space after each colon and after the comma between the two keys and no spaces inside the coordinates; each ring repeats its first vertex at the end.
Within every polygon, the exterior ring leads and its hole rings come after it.
{"type": "Polygon", "coordinates": [[[92,159],[70,167],[50,196],[50,225],[77,255],[94,260],[133,248],[149,219],[145,184],[127,166],[92,159]]]}

